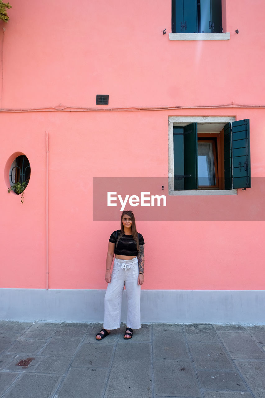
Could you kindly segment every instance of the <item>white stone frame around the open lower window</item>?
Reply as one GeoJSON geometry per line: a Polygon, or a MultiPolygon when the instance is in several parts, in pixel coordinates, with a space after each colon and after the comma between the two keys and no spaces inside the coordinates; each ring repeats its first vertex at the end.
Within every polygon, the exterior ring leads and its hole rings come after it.
{"type": "MultiPolygon", "coordinates": [[[[182,34],[182,33],[181,33],[182,34]]],[[[184,34],[184,33],[183,33],[184,34]]],[[[186,34],[186,33],[185,33],[186,34]]],[[[188,34],[188,33],[187,33],[188,34]]],[[[196,33],[197,34],[197,33],[196,33]]],[[[204,34],[204,33],[203,33],[204,34]]],[[[220,33],[216,33],[220,34],[220,33]]],[[[237,195],[237,189],[207,189],[174,191],[174,151],[173,151],[173,126],[186,126],[190,123],[198,124],[226,124],[236,121],[234,116],[169,116],[168,117],[168,193],[174,196],[184,195],[237,195]]]]}

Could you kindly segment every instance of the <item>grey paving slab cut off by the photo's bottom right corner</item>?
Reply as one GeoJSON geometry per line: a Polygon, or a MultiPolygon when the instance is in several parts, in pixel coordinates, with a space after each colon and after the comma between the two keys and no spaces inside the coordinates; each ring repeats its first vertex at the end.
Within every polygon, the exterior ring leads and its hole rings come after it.
{"type": "Polygon", "coordinates": [[[236,361],[255,398],[265,397],[265,361],[236,361]]]}

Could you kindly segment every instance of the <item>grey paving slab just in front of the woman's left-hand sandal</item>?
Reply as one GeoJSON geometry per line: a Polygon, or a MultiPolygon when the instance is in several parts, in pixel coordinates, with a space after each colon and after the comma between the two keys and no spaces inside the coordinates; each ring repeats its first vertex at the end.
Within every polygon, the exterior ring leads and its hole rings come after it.
{"type": "Polygon", "coordinates": [[[110,367],[113,350],[113,344],[83,343],[78,349],[71,366],[110,367]]]}

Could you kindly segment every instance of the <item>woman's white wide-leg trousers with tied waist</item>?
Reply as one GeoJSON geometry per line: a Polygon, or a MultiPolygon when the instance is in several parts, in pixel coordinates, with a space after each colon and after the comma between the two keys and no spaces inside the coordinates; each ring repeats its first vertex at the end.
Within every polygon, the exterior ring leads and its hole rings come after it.
{"type": "Polygon", "coordinates": [[[140,329],[140,294],[138,282],[138,259],[114,259],[111,283],[105,294],[104,329],[118,329],[121,326],[121,301],[124,286],[127,297],[127,327],[140,329]]]}

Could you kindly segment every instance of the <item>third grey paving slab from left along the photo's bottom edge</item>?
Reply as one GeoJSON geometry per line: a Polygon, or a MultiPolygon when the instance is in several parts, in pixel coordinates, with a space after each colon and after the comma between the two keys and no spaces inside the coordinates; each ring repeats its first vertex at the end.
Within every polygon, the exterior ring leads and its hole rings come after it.
{"type": "Polygon", "coordinates": [[[101,398],[107,374],[108,369],[70,368],[54,398],[101,398]]]}

